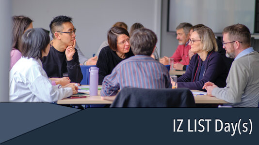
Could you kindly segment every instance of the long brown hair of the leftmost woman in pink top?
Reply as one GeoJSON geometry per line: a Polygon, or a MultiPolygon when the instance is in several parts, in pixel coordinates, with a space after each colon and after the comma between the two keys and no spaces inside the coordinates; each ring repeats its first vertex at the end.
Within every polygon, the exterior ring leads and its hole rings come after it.
{"type": "Polygon", "coordinates": [[[27,16],[18,15],[13,16],[13,28],[12,28],[12,48],[16,48],[19,51],[20,47],[18,46],[19,40],[22,37],[24,31],[30,26],[32,23],[32,19],[27,16]]]}

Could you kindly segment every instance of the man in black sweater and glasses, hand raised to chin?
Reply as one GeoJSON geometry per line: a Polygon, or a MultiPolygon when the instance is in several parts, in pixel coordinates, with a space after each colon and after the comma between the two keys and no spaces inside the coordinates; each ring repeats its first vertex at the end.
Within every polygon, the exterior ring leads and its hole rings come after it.
{"type": "Polygon", "coordinates": [[[72,18],[64,15],[56,16],[49,28],[53,37],[49,55],[43,58],[43,68],[48,77],[68,76],[71,82],[80,83],[81,73],[78,50],[75,48],[77,29],[72,18]]]}

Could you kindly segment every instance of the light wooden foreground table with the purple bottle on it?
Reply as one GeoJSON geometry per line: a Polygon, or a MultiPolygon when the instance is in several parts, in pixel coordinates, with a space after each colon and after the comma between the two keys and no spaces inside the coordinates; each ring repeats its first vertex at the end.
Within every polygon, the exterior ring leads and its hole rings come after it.
{"type": "MultiPolygon", "coordinates": [[[[198,90],[191,90],[191,91],[198,91],[198,90]]],[[[214,96],[195,95],[195,94],[194,94],[194,101],[195,103],[228,103],[214,96]]],[[[100,90],[98,90],[97,96],[89,96],[86,98],[78,98],[78,99],[65,98],[65,99],[59,100],[57,103],[58,104],[111,104],[113,103],[113,101],[102,100],[100,95],[100,90]]]]}

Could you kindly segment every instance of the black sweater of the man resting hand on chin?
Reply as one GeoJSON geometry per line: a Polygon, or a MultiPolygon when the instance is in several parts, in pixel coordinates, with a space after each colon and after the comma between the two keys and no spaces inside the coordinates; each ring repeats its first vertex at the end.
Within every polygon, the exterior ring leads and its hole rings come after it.
{"type": "Polygon", "coordinates": [[[50,47],[47,57],[43,57],[43,69],[47,73],[48,77],[64,77],[68,76],[71,82],[80,83],[83,79],[83,75],[78,60],[77,49],[73,55],[73,59],[66,60],[65,51],[60,52],[53,46],[50,47]]]}

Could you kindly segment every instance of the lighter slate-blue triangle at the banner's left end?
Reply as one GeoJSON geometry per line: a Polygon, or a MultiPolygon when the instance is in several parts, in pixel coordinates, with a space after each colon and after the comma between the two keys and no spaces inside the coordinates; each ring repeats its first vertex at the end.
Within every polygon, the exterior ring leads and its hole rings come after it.
{"type": "Polygon", "coordinates": [[[0,143],[78,111],[47,102],[1,102],[0,143]]]}

